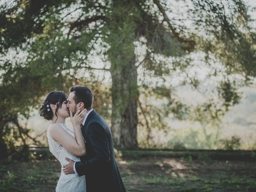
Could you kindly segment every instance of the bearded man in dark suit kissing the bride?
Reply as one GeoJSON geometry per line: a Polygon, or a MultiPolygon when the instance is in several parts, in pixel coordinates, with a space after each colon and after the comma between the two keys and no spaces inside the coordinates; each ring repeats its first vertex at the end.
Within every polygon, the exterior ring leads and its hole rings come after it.
{"type": "Polygon", "coordinates": [[[114,156],[112,135],[104,118],[92,109],[93,94],[85,86],[73,86],[68,96],[68,110],[87,109],[82,122],[86,156],[81,161],[69,161],[63,166],[65,174],[85,175],[87,192],[126,192],[114,156]]]}

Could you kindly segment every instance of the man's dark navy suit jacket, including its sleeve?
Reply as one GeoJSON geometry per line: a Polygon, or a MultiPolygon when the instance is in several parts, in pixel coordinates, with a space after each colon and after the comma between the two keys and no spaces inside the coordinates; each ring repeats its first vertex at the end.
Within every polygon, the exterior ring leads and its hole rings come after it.
{"type": "Polygon", "coordinates": [[[94,110],[82,127],[86,140],[86,156],[76,162],[79,176],[86,177],[87,192],[126,192],[114,156],[110,128],[104,118],[94,110]]]}

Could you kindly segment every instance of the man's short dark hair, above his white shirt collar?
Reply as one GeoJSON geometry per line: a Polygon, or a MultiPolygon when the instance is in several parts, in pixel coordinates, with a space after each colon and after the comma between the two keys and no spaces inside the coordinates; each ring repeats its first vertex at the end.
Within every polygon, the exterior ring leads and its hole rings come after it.
{"type": "Polygon", "coordinates": [[[92,109],[92,103],[93,103],[93,94],[92,90],[86,86],[72,86],[70,88],[70,92],[74,92],[74,101],[76,104],[83,102],[84,108],[87,110],[92,109]]]}

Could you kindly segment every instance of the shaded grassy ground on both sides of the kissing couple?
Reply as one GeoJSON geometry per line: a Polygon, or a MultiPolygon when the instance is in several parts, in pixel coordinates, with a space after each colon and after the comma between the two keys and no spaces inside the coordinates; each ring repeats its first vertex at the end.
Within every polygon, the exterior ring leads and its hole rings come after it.
{"type": "MultiPolygon", "coordinates": [[[[124,156],[118,166],[128,192],[256,192],[255,161],[124,156]]],[[[57,161],[0,161],[0,192],[53,192],[57,161]]]]}

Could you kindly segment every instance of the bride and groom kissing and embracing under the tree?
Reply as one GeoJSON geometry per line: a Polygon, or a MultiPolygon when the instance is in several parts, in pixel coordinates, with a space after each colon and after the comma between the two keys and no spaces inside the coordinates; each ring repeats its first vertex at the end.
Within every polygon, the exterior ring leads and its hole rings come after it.
{"type": "Polygon", "coordinates": [[[47,131],[50,152],[62,166],[56,192],[126,192],[110,128],[92,103],[90,88],[73,86],[69,96],[48,93],[40,106],[40,116],[52,121],[47,131]],[[68,117],[74,132],[65,124],[68,117]]]}

